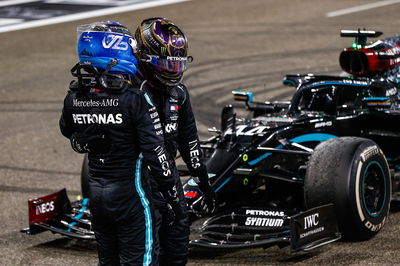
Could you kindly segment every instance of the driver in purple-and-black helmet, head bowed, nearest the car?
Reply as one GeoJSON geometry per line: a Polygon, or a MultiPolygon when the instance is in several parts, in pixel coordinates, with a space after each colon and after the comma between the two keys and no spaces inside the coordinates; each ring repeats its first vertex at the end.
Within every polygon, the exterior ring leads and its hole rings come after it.
{"type": "MultiPolygon", "coordinates": [[[[186,36],[172,21],[150,18],[138,26],[135,38],[138,42],[137,76],[142,79],[140,89],[149,94],[160,115],[165,148],[171,158],[175,158],[179,150],[203,193],[201,211],[213,213],[216,209],[215,193],[210,186],[207,169],[202,160],[189,93],[181,83],[183,72],[192,60],[187,54],[186,36]]],[[[175,162],[171,161],[171,164],[174,166],[175,162]]],[[[177,188],[176,195],[181,207],[175,211],[173,223],[168,211],[169,195],[161,195],[157,184],[152,185],[156,209],[161,216],[160,265],[185,265],[189,243],[189,218],[178,171],[176,167],[172,169],[177,188]]],[[[153,175],[151,167],[147,174],[153,175]]]]}

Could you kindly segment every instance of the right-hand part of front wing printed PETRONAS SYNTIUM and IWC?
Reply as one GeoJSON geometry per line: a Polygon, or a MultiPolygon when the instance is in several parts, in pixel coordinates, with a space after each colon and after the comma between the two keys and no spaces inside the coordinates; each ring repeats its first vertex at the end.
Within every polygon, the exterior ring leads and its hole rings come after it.
{"type": "Polygon", "coordinates": [[[332,204],[305,212],[240,208],[208,219],[201,231],[201,237],[191,241],[191,246],[234,249],[278,245],[297,252],[341,238],[332,204]]]}

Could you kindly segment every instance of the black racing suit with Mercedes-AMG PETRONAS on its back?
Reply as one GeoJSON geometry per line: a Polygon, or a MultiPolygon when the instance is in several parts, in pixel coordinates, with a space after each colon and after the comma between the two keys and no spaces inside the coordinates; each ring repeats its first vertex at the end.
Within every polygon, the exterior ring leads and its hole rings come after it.
{"type": "Polygon", "coordinates": [[[70,91],[65,98],[60,119],[65,137],[97,123],[111,141],[108,153],[89,152],[89,202],[100,265],[158,264],[154,210],[142,164],[151,166],[162,189],[170,189],[174,179],[157,119],[156,108],[139,89],[70,91]]]}

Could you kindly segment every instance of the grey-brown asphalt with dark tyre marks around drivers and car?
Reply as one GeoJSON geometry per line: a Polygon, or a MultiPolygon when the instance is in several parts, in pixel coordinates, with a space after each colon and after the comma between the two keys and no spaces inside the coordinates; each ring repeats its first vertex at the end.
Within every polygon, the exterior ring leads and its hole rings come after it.
{"type": "MultiPolygon", "coordinates": [[[[369,1],[371,2],[371,1],[369,1]]],[[[190,40],[195,58],[186,74],[202,137],[219,124],[221,107],[232,102],[230,91],[247,89],[256,100],[289,99],[281,85],[286,73],[337,74],[338,55],[352,40],[340,29],[400,29],[400,4],[327,18],[325,14],[354,1],[193,0],[0,34],[0,265],[95,265],[93,243],[43,233],[23,235],[27,199],[67,188],[79,195],[82,157],[58,129],[62,100],[76,62],[77,25],[118,20],[133,29],[152,16],[171,18],[190,40]]],[[[191,250],[189,265],[266,264],[398,264],[400,213],[392,212],[372,240],[338,242],[312,254],[287,249],[230,252],[191,250]]]]}

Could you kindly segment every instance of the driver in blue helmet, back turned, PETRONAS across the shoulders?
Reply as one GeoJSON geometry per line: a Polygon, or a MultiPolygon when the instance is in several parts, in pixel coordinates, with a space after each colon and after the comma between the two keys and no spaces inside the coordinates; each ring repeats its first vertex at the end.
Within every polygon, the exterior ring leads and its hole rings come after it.
{"type": "Polygon", "coordinates": [[[134,88],[136,41],[117,22],[78,27],[76,80],[64,100],[62,134],[88,153],[89,207],[99,265],[157,265],[153,206],[142,164],[174,191],[171,159],[155,106],[134,88]]]}

